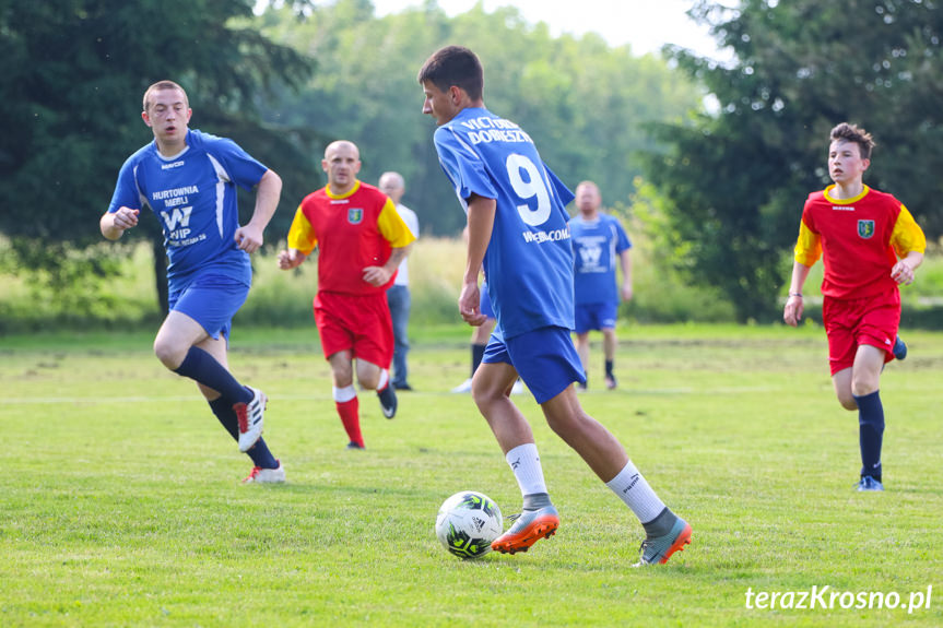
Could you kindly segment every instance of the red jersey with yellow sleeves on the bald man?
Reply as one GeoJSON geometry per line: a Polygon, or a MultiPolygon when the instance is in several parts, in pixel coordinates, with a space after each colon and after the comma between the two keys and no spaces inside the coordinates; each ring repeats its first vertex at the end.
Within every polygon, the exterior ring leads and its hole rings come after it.
{"type": "Polygon", "coordinates": [[[318,292],[349,295],[385,292],[396,273],[387,284],[374,286],[364,281],[364,269],[384,265],[391,248],[414,239],[392,201],[361,181],[343,195],[329,187],[308,194],[288,229],[288,248],[308,254],[318,247],[318,292]]]}

